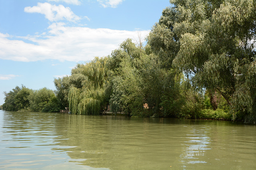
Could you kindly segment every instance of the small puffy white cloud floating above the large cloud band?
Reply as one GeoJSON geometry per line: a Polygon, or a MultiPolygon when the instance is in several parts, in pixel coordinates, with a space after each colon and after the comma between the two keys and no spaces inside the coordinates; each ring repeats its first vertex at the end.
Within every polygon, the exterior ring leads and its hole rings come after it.
{"type": "Polygon", "coordinates": [[[25,7],[24,12],[44,14],[45,18],[49,21],[68,20],[74,22],[81,19],[76,16],[69,7],[64,7],[63,5],[51,5],[47,2],[38,2],[37,6],[25,7]]]}

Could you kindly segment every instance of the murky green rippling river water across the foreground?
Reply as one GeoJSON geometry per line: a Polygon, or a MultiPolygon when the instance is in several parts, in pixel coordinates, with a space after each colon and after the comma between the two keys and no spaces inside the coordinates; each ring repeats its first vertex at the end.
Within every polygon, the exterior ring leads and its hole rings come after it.
{"type": "Polygon", "coordinates": [[[0,169],[254,170],[256,126],[0,110],[0,169]]]}

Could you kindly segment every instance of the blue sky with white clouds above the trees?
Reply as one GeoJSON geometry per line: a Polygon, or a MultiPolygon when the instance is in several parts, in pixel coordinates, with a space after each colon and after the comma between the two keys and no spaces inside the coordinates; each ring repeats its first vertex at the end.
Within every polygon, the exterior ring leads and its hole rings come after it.
{"type": "Polygon", "coordinates": [[[0,0],[0,105],[16,86],[55,90],[78,63],[142,39],[169,0],[0,0]]]}

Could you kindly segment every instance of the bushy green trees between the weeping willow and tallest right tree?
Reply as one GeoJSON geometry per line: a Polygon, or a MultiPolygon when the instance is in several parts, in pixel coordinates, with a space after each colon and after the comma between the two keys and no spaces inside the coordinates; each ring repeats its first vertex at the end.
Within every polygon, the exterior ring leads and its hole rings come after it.
{"type": "Polygon", "coordinates": [[[113,113],[132,116],[174,116],[180,109],[181,75],[162,67],[150,46],[136,47],[131,39],[112,52],[110,68],[110,106],[113,113]],[[148,108],[143,108],[144,104],[148,108]]]}

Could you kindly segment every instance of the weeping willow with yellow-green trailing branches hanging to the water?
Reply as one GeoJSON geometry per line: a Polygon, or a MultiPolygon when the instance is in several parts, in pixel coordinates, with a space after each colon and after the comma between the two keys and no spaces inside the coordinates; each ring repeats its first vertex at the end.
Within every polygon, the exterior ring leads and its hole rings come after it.
{"type": "Polygon", "coordinates": [[[68,94],[72,114],[99,114],[104,103],[104,92],[107,83],[106,61],[108,57],[95,57],[89,63],[78,64],[72,70],[71,77],[76,77],[68,94]],[[80,81],[77,81],[77,80],[80,81]],[[79,84],[77,84],[79,82],[79,84]]]}

